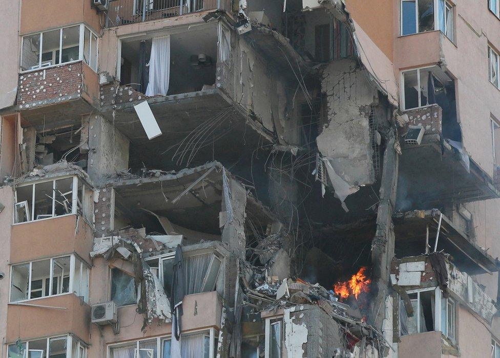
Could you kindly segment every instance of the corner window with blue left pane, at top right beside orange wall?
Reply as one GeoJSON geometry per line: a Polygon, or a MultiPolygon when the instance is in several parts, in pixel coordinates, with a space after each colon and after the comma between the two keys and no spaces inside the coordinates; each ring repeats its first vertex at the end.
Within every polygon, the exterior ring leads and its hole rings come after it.
{"type": "Polygon", "coordinates": [[[446,0],[401,0],[401,35],[441,30],[453,41],[453,9],[446,0]],[[435,9],[438,9],[436,24],[435,9]]]}

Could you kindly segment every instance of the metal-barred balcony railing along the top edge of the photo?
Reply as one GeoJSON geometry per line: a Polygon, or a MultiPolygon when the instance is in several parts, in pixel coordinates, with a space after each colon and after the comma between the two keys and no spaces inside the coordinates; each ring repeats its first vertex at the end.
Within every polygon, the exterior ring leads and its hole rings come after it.
{"type": "Polygon", "coordinates": [[[111,0],[106,27],[216,9],[230,11],[231,0],[111,0]]]}

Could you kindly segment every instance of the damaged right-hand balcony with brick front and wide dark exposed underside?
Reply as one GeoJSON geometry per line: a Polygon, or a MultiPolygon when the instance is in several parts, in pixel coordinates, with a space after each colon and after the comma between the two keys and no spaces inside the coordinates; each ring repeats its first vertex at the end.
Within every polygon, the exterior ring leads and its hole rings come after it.
{"type": "Polygon", "coordinates": [[[405,115],[408,122],[401,135],[406,135],[409,126],[421,127],[424,135],[420,144],[409,143],[405,137],[399,161],[398,211],[500,196],[492,178],[464,150],[460,129],[449,111],[434,104],[407,110],[405,115]]]}

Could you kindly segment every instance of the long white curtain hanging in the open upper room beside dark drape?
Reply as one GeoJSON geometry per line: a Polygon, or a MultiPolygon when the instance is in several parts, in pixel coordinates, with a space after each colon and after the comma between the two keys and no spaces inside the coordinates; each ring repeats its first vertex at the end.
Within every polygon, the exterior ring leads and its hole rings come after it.
{"type": "Polygon", "coordinates": [[[146,96],[166,96],[170,82],[170,35],[153,38],[146,96]]]}

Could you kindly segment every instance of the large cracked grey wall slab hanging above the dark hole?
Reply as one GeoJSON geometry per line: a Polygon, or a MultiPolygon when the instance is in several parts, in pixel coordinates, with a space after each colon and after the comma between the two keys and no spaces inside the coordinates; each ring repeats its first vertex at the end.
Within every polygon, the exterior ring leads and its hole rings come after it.
{"type": "Polygon", "coordinates": [[[353,60],[331,62],[323,71],[328,124],[316,139],[321,154],[350,186],[373,184],[368,117],[376,91],[353,60]]]}

